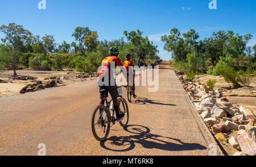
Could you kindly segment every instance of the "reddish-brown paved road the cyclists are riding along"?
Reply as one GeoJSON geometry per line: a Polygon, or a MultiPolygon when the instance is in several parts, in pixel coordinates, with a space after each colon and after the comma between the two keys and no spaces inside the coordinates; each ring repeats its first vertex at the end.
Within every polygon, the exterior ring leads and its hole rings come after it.
{"type": "Polygon", "coordinates": [[[98,104],[96,80],[0,98],[0,155],[208,155],[216,144],[168,64],[160,65],[159,91],[137,87],[130,126],[115,124],[104,143],[90,118],[98,104]]]}

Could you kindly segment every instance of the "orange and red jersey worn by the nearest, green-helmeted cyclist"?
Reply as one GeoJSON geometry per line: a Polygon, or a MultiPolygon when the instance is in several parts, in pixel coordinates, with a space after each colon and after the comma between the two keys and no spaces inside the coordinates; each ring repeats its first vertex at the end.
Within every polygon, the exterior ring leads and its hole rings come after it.
{"type": "Polygon", "coordinates": [[[117,56],[108,56],[101,62],[101,70],[98,74],[99,77],[109,77],[110,76],[110,65],[111,62],[114,63],[114,66],[122,65],[121,60],[117,56]]]}

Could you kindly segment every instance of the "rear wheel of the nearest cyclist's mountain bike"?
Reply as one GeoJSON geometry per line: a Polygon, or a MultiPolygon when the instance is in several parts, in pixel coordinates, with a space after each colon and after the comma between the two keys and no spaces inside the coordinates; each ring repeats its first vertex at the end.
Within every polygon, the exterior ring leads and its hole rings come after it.
{"type": "Polygon", "coordinates": [[[92,115],[92,132],[98,141],[104,141],[110,131],[110,114],[104,105],[95,108],[92,115]]]}

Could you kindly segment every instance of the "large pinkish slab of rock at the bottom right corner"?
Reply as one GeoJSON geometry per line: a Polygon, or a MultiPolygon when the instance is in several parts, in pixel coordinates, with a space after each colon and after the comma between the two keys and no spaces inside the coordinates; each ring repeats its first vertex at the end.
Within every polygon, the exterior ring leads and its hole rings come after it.
{"type": "MultiPolygon", "coordinates": [[[[255,138],[255,137],[254,137],[255,138]]],[[[237,137],[242,152],[249,156],[256,156],[256,140],[249,132],[242,133],[237,137]]]]}

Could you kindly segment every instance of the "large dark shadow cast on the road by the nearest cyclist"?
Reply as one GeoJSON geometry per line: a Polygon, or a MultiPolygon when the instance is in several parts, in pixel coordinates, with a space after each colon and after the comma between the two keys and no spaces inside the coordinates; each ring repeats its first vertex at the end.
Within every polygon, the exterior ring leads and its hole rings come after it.
{"type": "Polygon", "coordinates": [[[150,133],[150,129],[139,125],[130,125],[124,128],[125,131],[133,133],[130,136],[112,136],[100,143],[102,148],[109,151],[125,152],[134,149],[135,143],[141,144],[142,147],[151,149],[162,149],[164,151],[191,151],[207,149],[201,144],[184,143],[179,139],[164,137],[150,133]],[[171,141],[176,141],[172,143],[171,141]],[[179,144],[177,144],[177,142],[179,144]]]}

